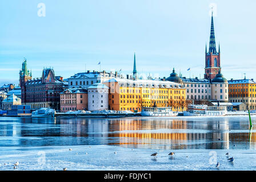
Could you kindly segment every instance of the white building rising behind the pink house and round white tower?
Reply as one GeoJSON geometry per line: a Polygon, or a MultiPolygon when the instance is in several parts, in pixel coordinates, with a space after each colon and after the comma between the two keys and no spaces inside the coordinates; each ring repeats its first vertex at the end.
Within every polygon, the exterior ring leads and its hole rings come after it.
{"type": "Polygon", "coordinates": [[[102,83],[110,78],[119,77],[118,73],[107,73],[106,71],[97,72],[97,71],[87,71],[83,73],[77,73],[70,78],[67,78],[69,81],[69,88],[83,88],[87,89],[89,86],[102,83]]]}

